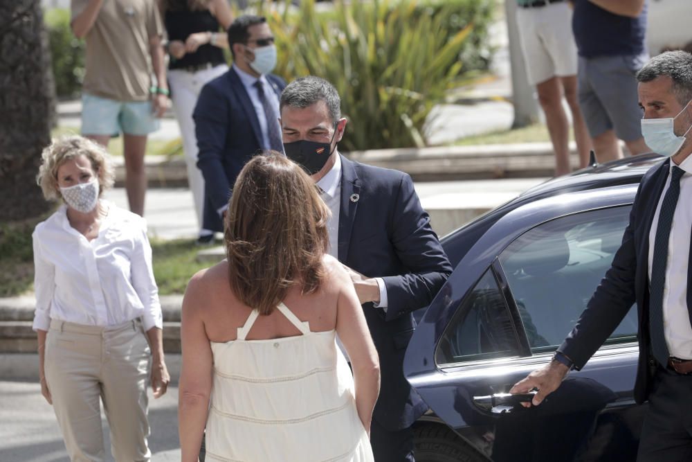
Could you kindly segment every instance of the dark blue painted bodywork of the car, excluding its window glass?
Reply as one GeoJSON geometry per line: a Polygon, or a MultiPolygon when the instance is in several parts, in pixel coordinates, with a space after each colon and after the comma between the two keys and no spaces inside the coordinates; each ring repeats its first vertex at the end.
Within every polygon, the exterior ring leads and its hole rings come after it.
{"type": "MultiPolygon", "coordinates": [[[[587,211],[629,206],[641,176],[661,157],[647,155],[586,169],[537,186],[443,239],[455,271],[421,318],[404,361],[409,382],[437,418],[494,461],[634,459],[644,407],[633,400],[638,347],[634,337],[605,345],[573,371],[540,406],[479,405],[480,397],[509,391],[552,352],[531,353],[498,256],[540,224],[587,211]],[[469,242],[471,240],[471,242],[469,242]],[[517,355],[438,365],[446,328],[480,279],[490,272],[518,332],[517,355]]],[[[595,287],[594,287],[595,290],[595,287]]],[[[636,328],[636,327],[635,327],[636,328]]]]}

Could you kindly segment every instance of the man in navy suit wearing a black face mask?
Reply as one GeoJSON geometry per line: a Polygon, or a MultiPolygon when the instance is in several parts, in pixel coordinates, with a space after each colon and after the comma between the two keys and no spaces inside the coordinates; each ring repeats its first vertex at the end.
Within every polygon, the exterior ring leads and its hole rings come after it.
{"type": "Polygon", "coordinates": [[[413,461],[411,425],[428,406],[403,377],[415,329],[411,312],[432,301],[452,267],[411,178],[338,153],[346,119],[329,82],[295,80],[280,105],[284,151],[309,172],[332,211],[330,253],[352,276],[379,353],[381,391],[370,439],[375,460],[413,461]]]}

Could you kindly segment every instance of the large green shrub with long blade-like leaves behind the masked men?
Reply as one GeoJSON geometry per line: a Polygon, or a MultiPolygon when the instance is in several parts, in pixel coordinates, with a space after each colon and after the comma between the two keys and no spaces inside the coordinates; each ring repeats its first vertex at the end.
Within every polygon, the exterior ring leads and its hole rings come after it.
{"type": "Polygon", "coordinates": [[[332,82],[349,118],[341,146],[363,150],[425,144],[430,110],[470,70],[460,57],[473,56],[473,69],[486,66],[473,50],[486,41],[492,6],[486,0],[338,0],[318,12],[313,0],[302,0],[298,12],[266,15],[279,48],[277,73],[332,82]]]}

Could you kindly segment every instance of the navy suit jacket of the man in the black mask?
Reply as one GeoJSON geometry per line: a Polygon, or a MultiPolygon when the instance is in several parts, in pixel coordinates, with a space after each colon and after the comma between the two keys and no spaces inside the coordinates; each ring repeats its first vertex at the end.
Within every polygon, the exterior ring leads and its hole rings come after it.
{"type": "Polygon", "coordinates": [[[452,266],[410,176],[343,156],[341,165],[338,259],[387,287],[387,312],[372,303],[363,311],[380,358],[374,418],[394,431],[428,409],[403,376],[403,355],[416,326],[412,311],[432,301],[452,266]]]}

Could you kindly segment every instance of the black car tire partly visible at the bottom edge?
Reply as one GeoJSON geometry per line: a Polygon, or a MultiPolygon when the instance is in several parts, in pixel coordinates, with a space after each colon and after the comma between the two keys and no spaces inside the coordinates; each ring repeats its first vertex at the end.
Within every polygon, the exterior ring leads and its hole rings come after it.
{"type": "Polygon", "coordinates": [[[488,462],[449,427],[424,424],[414,427],[417,462],[488,462]]]}

